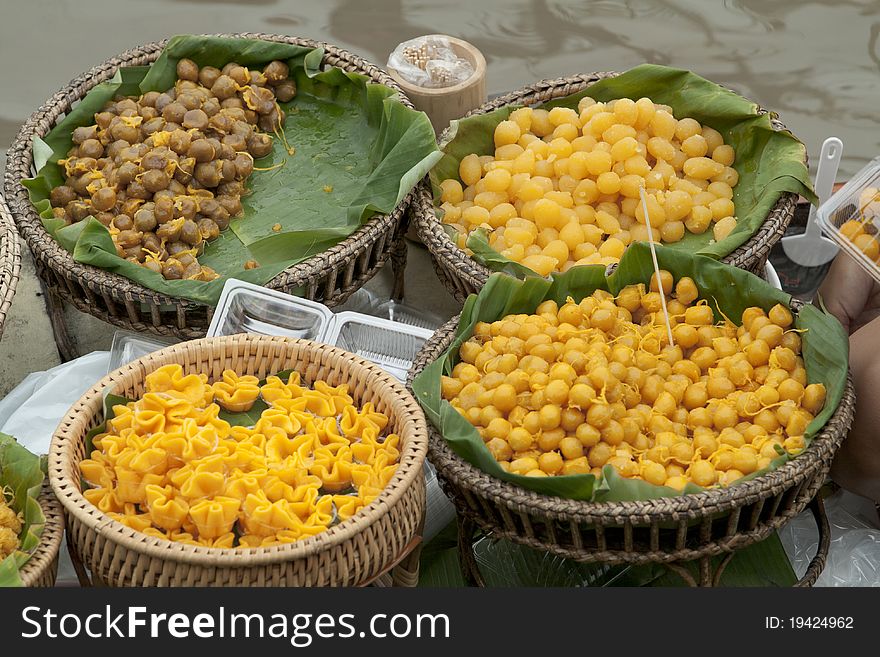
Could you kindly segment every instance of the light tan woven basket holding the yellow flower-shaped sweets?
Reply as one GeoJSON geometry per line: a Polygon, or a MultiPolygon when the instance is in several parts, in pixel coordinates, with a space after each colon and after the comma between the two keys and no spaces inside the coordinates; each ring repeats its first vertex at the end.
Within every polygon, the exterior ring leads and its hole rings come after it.
{"type": "Polygon", "coordinates": [[[107,586],[414,586],[425,510],[422,466],[427,429],[418,403],[377,366],[307,340],[235,335],[182,343],[109,374],[61,421],[49,452],[49,479],[67,517],[68,547],[82,583],[107,586]],[[215,549],[172,543],[136,532],[83,497],[79,463],[85,436],[103,420],[103,393],[136,397],[144,377],[179,363],[211,379],[224,369],[264,378],[294,369],[312,383],[347,383],[355,403],[372,401],[401,438],[400,465],[381,495],[354,517],[296,543],[255,549],[215,549]],[[415,548],[415,549],[414,549],[415,548]],[[389,571],[391,578],[387,577],[389,571]]]}

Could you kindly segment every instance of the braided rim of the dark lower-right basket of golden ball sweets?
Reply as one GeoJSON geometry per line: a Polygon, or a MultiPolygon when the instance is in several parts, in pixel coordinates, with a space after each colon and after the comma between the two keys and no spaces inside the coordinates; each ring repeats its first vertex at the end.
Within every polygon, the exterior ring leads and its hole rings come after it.
{"type": "MultiPolygon", "coordinates": [[[[458,327],[460,315],[453,317],[437,329],[416,357],[407,376],[407,387],[412,380],[446,350],[458,327]]],[[[650,500],[626,500],[594,502],[572,500],[555,495],[537,493],[514,483],[496,479],[456,454],[432,422],[428,422],[430,436],[428,457],[438,475],[446,478],[456,488],[464,489],[478,498],[518,511],[526,510],[554,520],[571,520],[584,524],[623,524],[624,521],[644,519],[644,522],[679,520],[682,517],[706,517],[726,513],[758,499],[766,499],[782,490],[806,481],[822,467],[830,466],[834,452],[843,442],[852,419],[855,406],[855,389],[852,373],[848,372],[846,386],[840,404],[834,414],[819,429],[809,446],[774,470],[758,477],[717,489],[698,493],[661,497],[650,500]]]]}

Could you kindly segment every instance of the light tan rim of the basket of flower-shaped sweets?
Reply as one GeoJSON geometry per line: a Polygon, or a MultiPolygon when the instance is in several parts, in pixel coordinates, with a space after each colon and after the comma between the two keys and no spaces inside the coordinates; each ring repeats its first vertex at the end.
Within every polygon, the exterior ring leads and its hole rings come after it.
{"type": "MultiPolygon", "coordinates": [[[[219,353],[215,354],[215,356],[222,358],[222,354],[219,353]]],[[[337,347],[312,340],[256,334],[236,334],[215,338],[201,338],[171,345],[120,367],[98,381],[67,411],[52,437],[48,457],[49,481],[55,496],[64,507],[65,513],[71,514],[83,526],[127,550],[175,563],[241,568],[305,559],[338,547],[340,544],[366,530],[377,520],[387,515],[391,508],[404,497],[406,491],[417,484],[418,478],[422,473],[427,451],[428,430],[421,407],[402,383],[379,366],[337,347]],[[115,377],[121,376],[128,370],[140,370],[142,378],[160,366],[156,363],[153,363],[152,366],[150,365],[154,358],[173,357],[193,349],[206,349],[208,353],[213,353],[228,346],[236,346],[235,353],[241,354],[242,350],[246,350],[255,343],[266,345],[287,344],[291,348],[300,347],[304,353],[308,354],[307,362],[310,364],[317,362],[316,359],[313,359],[318,355],[325,358],[329,357],[336,363],[345,362],[346,365],[343,369],[348,368],[349,371],[352,369],[359,370],[366,376],[375,378],[382,386],[383,394],[387,394],[390,398],[407,404],[408,408],[401,418],[402,429],[398,432],[398,435],[401,437],[407,436],[407,443],[406,447],[401,450],[397,470],[379,496],[354,516],[320,534],[283,545],[258,548],[193,546],[152,537],[126,527],[89,502],[82,494],[78,481],[73,481],[66,475],[59,474],[64,472],[66,466],[74,458],[73,450],[75,443],[83,439],[83,436],[68,434],[66,426],[70,424],[72,418],[79,415],[85,404],[94,401],[96,398],[103,399],[104,391],[112,389],[115,377]]]]}

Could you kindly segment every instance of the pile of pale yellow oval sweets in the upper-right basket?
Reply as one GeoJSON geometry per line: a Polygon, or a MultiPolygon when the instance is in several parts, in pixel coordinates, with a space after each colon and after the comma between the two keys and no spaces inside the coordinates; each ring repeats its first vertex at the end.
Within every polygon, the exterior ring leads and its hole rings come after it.
{"type": "Polygon", "coordinates": [[[733,147],[649,98],[520,108],[494,138],[494,156],[470,154],[460,181],[440,183],[443,221],[466,251],[482,228],[493,249],[542,276],[617,262],[628,244],[648,239],[642,187],[656,241],[710,228],[719,241],[736,227],[733,147]]]}

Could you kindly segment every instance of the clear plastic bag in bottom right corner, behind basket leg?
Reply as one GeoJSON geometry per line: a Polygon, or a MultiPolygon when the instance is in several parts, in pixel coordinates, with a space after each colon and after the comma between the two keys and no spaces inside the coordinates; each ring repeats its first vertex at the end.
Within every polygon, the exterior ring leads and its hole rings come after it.
{"type": "MultiPolygon", "coordinates": [[[[880,587],[880,527],[870,502],[845,491],[825,500],[831,546],[816,586],[880,587]]],[[[819,532],[811,511],[779,530],[779,538],[798,577],[816,554],[819,532]]]]}

